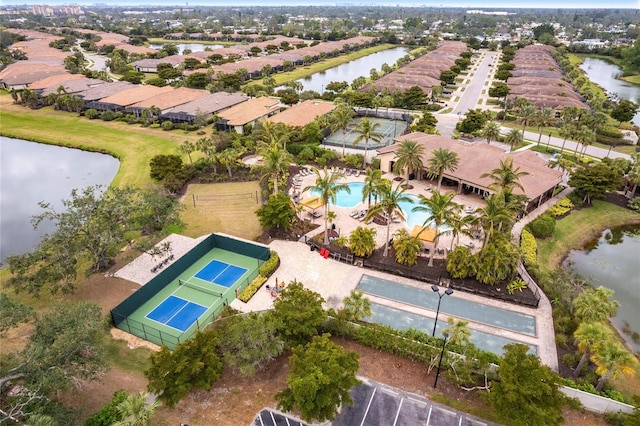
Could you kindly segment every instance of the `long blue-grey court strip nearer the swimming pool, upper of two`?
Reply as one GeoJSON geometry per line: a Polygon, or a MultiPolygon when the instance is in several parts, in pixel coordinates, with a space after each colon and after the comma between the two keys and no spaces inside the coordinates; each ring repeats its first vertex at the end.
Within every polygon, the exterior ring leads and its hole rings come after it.
{"type": "MultiPolygon", "coordinates": [[[[431,288],[422,290],[395,283],[382,278],[363,275],[358,290],[391,300],[407,303],[435,311],[438,306],[438,294],[431,288]]],[[[531,315],[508,311],[482,303],[471,302],[457,297],[444,296],[440,303],[440,312],[474,322],[512,330],[530,336],[536,336],[536,319],[531,315]]],[[[431,323],[433,327],[433,322],[431,323]]]]}

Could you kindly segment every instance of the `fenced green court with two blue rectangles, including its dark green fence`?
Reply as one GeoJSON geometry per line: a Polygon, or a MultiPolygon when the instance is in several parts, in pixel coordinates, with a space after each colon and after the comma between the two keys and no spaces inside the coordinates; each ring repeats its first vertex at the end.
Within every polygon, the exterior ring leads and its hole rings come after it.
{"type": "Polygon", "coordinates": [[[114,323],[131,334],[174,349],[219,315],[258,275],[268,256],[266,247],[216,235],[177,259],[112,310],[114,323]],[[221,248],[224,244],[229,249],[221,248]]]}

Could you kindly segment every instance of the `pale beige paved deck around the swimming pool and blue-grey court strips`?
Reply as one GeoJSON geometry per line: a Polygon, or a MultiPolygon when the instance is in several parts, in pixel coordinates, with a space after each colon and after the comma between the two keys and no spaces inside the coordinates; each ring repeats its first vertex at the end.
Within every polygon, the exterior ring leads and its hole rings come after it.
{"type": "MultiPolygon", "coordinates": [[[[315,175],[304,177],[301,188],[312,185],[314,176],[315,175]]],[[[393,176],[389,174],[385,175],[384,177],[393,179],[393,176]]],[[[345,182],[362,182],[363,179],[364,178],[362,174],[359,177],[348,176],[345,178],[345,182]]],[[[407,192],[412,194],[423,193],[428,196],[430,188],[433,187],[433,183],[430,181],[413,180],[411,181],[411,184],[414,186],[414,189],[407,192]]],[[[458,195],[456,196],[455,200],[459,204],[462,204],[465,207],[469,206],[472,209],[476,209],[483,205],[482,199],[475,195],[458,195]]],[[[353,208],[340,208],[332,206],[332,211],[335,211],[337,214],[337,218],[333,221],[333,223],[336,224],[336,230],[339,231],[341,235],[348,235],[353,229],[363,225],[363,222],[349,217],[349,213],[351,211],[362,208],[365,208],[364,204],[360,204],[359,206],[353,208]]],[[[324,213],[323,208],[318,209],[318,211],[322,211],[324,213]]],[[[308,237],[323,232],[323,218],[315,219],[315,223],[318,223],[321,226],[313,232],[307,234],[308,237]]],[[[376,229],[376,242],[378,246],[381,246],[386,240],[386,226],[380,226],[373,223],[367,224],[367,226],[376,229]]],[[[393,235],[396,230],[404,226],[404,222],[392,223],[390,230],[391,235],[393,235]]],[[[469,237],[460,238],[461,244],[470,244],[472,242],[473,240],[471,240],[471,238],[469,237]]],[[[451,237],[444,235],[440,239],[439,247],[449,247],[450,243],[451,237]]],[[[475,245],[479,246],[477,241],[475,245]]],[[[430,288],[429,285],[420,281],[348,265],[332,259],[324,259],[323,257],[318,255],[317,251],[310,251],[309,246],[301,241],[293,242],[275,240],[270,244],[270,248],[279,254],[280,267],[265,284],[273,287],[275,286],[276,279],[278,280],[278,282],[284,281],[285,283],[297,280],[301,282],[306,288],[319,293],[325,300],[325,308],[339,308],[342,305],[342,300],[349,295],[351,290],[354,290],[356,288],[356,286],[360,282],[360,279],[362,278],[362,275],[364,274],[391,280],[400,284],[415,286],[418,288],[430,288]]],[[[436,313],[429,309],[411,306],[402,302],[397,302],[372,295],[368,295],[368,297],[372,302],[379,303],[381,305],[405,310],[407,312],[413,312],[429,318],[435,318],[436,313]]],[[[530,336],[511,330],[506,330],[504,328],[476,323],[473,321],[469,321],[469,328],[471,330],[483,331],[485,333],[502,336],[508,339],[536,346],[538,356],[540,357],[542,363],[548,365],[555,371],[558,370],[558,355],[555,344],[551,305],[550,303],[548,303],[548,299],[546,299],[546,297],[543,297],[544,300],[541,301],[541,304],[537,309],[515,305],[495,299],[488,299],[462,291],[456,291],[450,297],[458,297],[472,302],[495,306],[497,308],[520,312],[535,317],[537,334],[536,336],[530,336]]],[[[259,290],[248,303],[245,304],[236,299],[233,301],[231,306],[243,312],[263,311],[273,307],[273,298],[270,293],[263,287],[263,289],[259,290]]],[[[438,317],[438,322],[443,321],[446,323],[447,318],[448,316],[441,312],[438,317]]]]}

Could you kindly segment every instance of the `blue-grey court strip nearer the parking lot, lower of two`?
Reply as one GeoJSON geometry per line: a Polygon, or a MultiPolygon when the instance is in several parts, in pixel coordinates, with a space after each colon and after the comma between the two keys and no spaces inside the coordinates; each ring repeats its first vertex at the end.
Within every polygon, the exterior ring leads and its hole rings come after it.
{"type": "MultiPolygon", "coordinates": [[[[371,316],[369,318],[365,318],[365,321],[383,324],[396,330],[407,330],[409,328],[413,328],[429,335],[431,335],[431,332],[433,331],[433,319],[411,312],[390,308],[388,306],[379,305],[377,303],[371,304],[371,316]]],[[[436,336],[441,337],[442,330],[447,327],[448,324],[446,321],[439,320],[436,327],[436,336]]],[[[469,338],[471,343],[473,343],[477,348],[487,352],[492,352],[496,355],[502,356],[504,353],[502,349],[504,345],[508,345],[510,343],[521,343],[529,346],[530,354],[538,355],[538,348],[536,346],[517,342],[505,337],[494,336],[493,334],[484,333],[482,331],[469,331],[471,332],[471,337],[469,338]]]]}

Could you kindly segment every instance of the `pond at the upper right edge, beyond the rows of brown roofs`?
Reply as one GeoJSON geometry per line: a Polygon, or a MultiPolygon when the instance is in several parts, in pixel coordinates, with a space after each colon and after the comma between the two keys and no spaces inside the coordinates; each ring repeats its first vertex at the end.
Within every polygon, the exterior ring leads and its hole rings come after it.
{"type": "MultiPolygon", "coordinates": [[[[628,99],[640,104],[640,85],[620,80],[622,70],[611,62],[598,58],[584,58],[580,65],[589,80],[601,86],[607,93],[618,95],[620,99],[628,99]]],[[[640,112],[633,118],[633,123],[640,126],[640,112]]]]}

